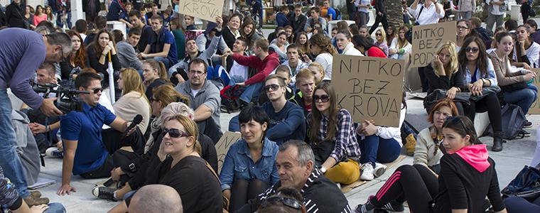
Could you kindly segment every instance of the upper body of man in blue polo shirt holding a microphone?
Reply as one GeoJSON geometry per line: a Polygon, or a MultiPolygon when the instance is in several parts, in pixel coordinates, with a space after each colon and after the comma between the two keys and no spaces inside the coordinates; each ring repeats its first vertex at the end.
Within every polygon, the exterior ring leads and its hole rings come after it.
{"type": "Polygon", "coordinates": [[[79,94],[83,102],[82,111],[70,111],[60,118],[64,159],[62,185],[58,195],[70,195],[70,192],[76,191],[75,187],[70,185],[72,173],[82,178],[109,177],[114,165],[107,151],[111,149],[111,145],[102,143],[102,126],[107,124],[121,132],[126,131],[128,126],[127,121],[98,104],[102,95],[99,75],[84,72],[75,79],[75,87],[89,93],[79,94]]]}

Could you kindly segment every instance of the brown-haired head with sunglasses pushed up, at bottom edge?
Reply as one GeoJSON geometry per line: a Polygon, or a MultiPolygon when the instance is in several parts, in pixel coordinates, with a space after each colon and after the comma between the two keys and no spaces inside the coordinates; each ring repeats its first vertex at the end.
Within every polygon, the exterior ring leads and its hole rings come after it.
{"type": "Polygon", "coordinates": [[[281,187],[262,203],[258,213],[306,213],[306,206],[303,204],[303,197],[298,190],[291,187],[281,187]]]}

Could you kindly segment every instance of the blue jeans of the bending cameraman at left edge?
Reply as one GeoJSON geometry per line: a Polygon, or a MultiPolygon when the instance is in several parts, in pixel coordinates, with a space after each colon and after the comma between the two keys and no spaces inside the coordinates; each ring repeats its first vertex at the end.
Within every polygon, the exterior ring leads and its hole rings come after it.
{"type": "Polygon", "coordinates": [[[15,151],[17,141],[15,130],[11,124],[11,101],[6,88],[0,88],[0,167],[4,169],[4,175],[17,187],[21,197],[28,197],[28,185],[21,159],[15,151]]]}

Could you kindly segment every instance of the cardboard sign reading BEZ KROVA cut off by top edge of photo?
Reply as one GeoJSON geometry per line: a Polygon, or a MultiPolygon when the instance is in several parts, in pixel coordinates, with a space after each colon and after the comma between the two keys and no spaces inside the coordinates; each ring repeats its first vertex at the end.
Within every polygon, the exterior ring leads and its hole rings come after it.
{"type": "Polygon", "coordinates": [[[178,13],[215,22],[215,17],[221,16],[223,12],[223,1],[224,0],[183,0],[178,4],[178,13]]]}

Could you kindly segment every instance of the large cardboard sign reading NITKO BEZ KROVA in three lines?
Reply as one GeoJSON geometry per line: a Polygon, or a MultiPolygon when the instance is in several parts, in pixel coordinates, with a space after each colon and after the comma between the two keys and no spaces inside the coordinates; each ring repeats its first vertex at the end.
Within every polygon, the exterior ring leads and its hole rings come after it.
{"type": "Polygon", "coordinates": [[[355,122],[399,126],[404,60],[334,55],[332,70],[338,104],[355,122]]]}

